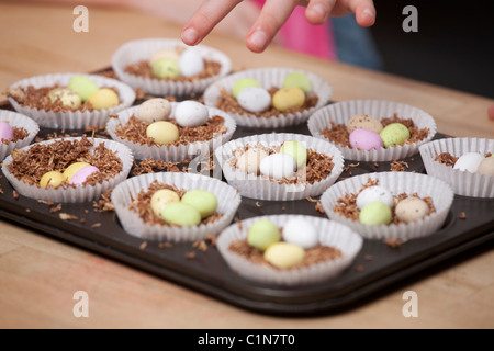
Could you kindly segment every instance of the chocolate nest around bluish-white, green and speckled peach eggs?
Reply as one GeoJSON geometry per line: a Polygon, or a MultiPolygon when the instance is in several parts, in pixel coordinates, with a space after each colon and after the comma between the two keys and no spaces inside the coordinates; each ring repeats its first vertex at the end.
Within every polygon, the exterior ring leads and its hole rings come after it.
{"type": "MultiPolygon", "coordinates": [[[[367,183],[362,185],[362,189],[360,189],[360,191],[357,194],[350,193],[350,194],[345,194],[345,196],[343,196],[343,197],[339,197],[336,201],[336,205],[333,207],[333,210],[335,211],[335,213],[337,213],[340,216],[344,216],[344,217],[349,218],[351,220],[358,222],[359,220],[360,211],[357,207],[357,196],[366,188],[375,186],[378,184],[379,184],[378,180],[373,181],[373,180],[371,180],[369,178],[367,183]]],[[[406,193],[402,193],[402,194],[398,194],[396,196],[393,196],[394,197],[394,206],[393,206],[393,208],[391,208],[391,213],[392,213],[391,223],[393,223],[395,225],[404,223],[404,222],[400,220],[396,217],[396,214],[395,214],[394,210],[395,210],[396,204],[400,201],[402,201],[404,199],[407,199],[407,197],[412,197],[412,196],[422,199],[422,200],[424,200],[427,203],[427,205],[429,206],[429,210],[430,210],[428,215],[430,215],[431,213],[436,212],[436,207],[434,207],[433,199],[430,196],[419,197],[416,193],[411,194],[411,195],[408,195],[406,193]]]]}

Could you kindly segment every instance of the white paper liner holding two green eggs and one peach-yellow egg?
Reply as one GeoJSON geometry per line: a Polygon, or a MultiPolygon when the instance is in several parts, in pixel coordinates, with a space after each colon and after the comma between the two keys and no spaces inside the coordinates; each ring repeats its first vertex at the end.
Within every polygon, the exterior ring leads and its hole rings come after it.
{"type": "Polygon", "coordinates": [[[240,205],[238,192],[221,180],[200,174],[188,173],[150,173],[127,179],[112,191],[112,203],[116,215],[126,233],[146,240],[194,241],[207,235],[216,235],[233,220],[240,205]],[[175,185],[184,190],[205,190],[212,192],[218,202],[216,213],[223,216],[213,223],[193,227],[161,226],[146,224],[137,213],[128,208],[132,199],[136,199],[142,190],[147,190],[155,181],[175,185]]]}

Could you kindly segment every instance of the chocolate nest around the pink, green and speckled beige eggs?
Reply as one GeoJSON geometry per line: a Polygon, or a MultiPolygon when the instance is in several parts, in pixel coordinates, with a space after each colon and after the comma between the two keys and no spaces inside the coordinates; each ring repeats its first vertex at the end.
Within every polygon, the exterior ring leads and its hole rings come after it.
{"type": "MultiPolygon", "coordinates": [[[[330,128],[325,127],[323,129],[324,137],[326,139],[328,139],[329,141],[335,143],[341,147],[351,148],[350,134],[347,131],[347,125],[335,124],[333,121],[329,121],[329,123],[332,124],[332,127],[330,128]]],[[[403,146],[405,144],[409,145],[409,144],[419,143],[419,141],[426,139],[430,132],[429,128],[418,129],[415,126],[415,123],[413,120],[400,118],[396,113],[391,118],[382,118],[381,120],[381,124],[383,125],[383,127],[385,127],[386,125],[389,125],[391,123],[401,123],[401,124],[405,125],[409,131],[409,135],[411,135],[409,139],[407,139],[401,146],[403,146]]]]}

